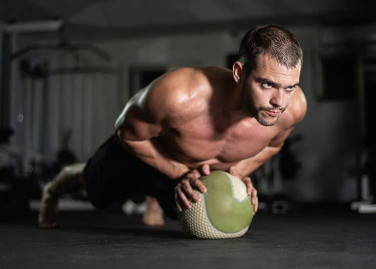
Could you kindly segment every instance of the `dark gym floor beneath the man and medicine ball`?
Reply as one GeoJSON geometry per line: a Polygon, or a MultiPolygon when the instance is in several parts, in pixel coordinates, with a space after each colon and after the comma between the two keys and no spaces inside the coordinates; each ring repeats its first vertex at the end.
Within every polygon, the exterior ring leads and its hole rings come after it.
{"type": "Polygon", "coordinates": [[[120,209],[63,211],[61,227],[38,228],[37,213],[2,212],[0,268],[375,268],[376,214],[348,205],[261,211],[241,238],[187,238],[178,222],[146,227],[120,209]]]}

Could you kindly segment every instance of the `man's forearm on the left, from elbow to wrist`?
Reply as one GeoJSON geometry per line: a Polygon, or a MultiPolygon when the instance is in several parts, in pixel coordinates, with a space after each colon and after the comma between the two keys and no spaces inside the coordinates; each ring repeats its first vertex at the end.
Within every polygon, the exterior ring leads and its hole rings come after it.
{"type": "Polygon", "coordinates": [[[120,140],[121,145],[133,156],[154,167],[171,179],[177,179],[189,172],[184,164],[174,160],[160,145],[157,139],[145,141],[120,140]]]}

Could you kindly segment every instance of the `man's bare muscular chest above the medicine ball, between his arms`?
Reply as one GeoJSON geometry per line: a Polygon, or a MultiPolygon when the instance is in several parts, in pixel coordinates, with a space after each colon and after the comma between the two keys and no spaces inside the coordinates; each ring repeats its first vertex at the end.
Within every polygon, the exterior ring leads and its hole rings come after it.
{"type": "Polygon", "coordinates": [[[255,156],[276,135],[275,128],[254,124],[251,119],[231,125],[216,122],[201,118],[172,131],[169,139],[178,155],[195,162],[232,163],[255,156]]]}

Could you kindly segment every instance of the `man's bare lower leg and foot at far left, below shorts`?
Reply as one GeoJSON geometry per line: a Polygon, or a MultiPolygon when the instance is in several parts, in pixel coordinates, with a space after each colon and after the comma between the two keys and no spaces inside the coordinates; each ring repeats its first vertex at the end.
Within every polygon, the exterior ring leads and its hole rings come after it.
{"type": "Polygon", "coordinates": [[[82,172],[85,164],[66,166],[54,180],[46,184],[42,193],[38,223],[41,228],[55,228],[59,225],[59,197],[63,193],[74,193],[85,188],[82,172]]]}

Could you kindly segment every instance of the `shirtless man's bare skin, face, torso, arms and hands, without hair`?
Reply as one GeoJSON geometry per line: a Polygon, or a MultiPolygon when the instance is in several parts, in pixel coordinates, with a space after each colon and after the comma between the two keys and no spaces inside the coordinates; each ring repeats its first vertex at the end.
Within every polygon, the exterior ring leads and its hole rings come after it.
{"type": "Polygon", "coordinates": [[[173,180],[177,207],[205,192],[199,178],[210,170],[238,176],[257,211],[257,191],[247,176],[278,153],[304,117],[300,66],[287,68],[269,55],[249,75],[235,62],[180,68],[153,81],[128,102],[116,122],[125,149],[173,180]]]}

